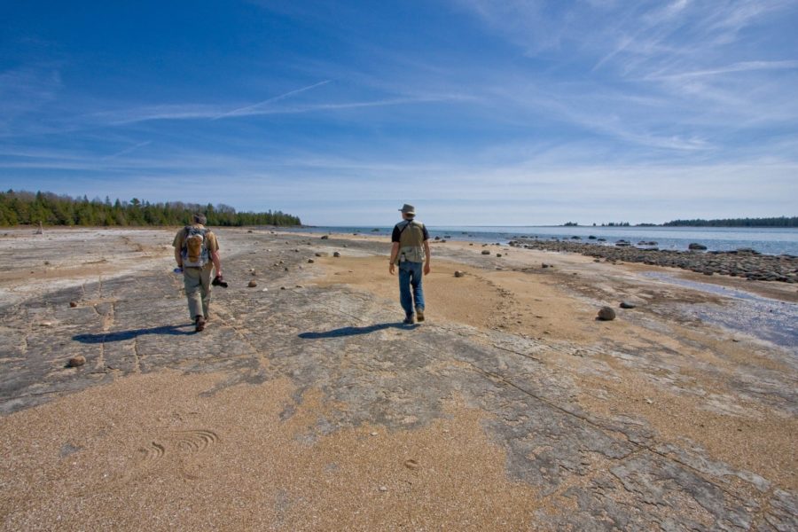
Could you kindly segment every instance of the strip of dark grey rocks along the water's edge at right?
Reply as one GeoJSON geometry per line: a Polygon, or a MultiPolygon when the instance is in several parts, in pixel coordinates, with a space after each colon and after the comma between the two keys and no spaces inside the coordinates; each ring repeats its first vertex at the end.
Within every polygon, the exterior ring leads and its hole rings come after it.
{"type": "MultiPolygon", "coordinates": [[[[646,243],[654,246],[655,243],[646,243]]],[[[752,249],[735,251],[703,251],[695,245],[691,251],[664,251],[656,247],[634,247],[625,240],[615,246],[600,246],[562,240],[514,239],[510,246],[542,251],[578,253],[607,262],[641,262],[691,270],[705,275],[725,275],[757,281],[798,283],[798,257],[765,255],[752,249]]],[[[693,246],[693,245],[691,245],[693,246]]]]}

